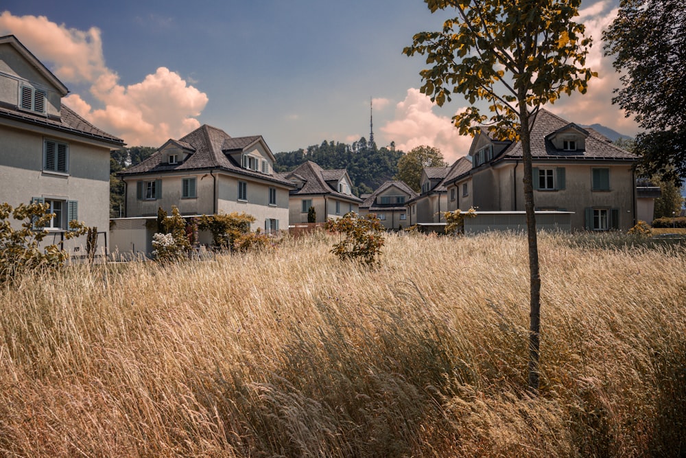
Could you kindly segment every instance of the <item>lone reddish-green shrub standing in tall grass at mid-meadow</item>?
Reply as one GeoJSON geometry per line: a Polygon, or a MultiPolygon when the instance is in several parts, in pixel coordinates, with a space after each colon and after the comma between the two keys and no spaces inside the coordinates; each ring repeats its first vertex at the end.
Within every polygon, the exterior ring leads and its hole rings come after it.
{"type": "Polygon", "coordinates": [[[353,211],[338,220],[328,220],[327,230],[340,234],[340,241],[333,245],[331,253],[340,260],[353,260],[372,266],[379,262],[383,247],[383,225],[374,214],[366,218],[353,211]]]}

